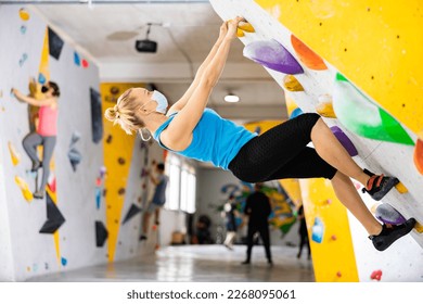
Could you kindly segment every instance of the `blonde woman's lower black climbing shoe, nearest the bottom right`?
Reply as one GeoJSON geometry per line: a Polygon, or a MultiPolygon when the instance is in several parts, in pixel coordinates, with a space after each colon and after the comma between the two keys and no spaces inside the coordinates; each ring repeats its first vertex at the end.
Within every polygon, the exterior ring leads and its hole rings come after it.
{"type": "Polygon", "coordinates": [[[406,223],[397,226],[388,227],[384,224],[382,226],[381,233],[379,233],[377,236],[370,236],[369,239],[372,240],[373,245],[376,250],[384,251],[400,237],[403,237],[409,233],[414,228],[414,218],[410,218],[406,220],[406,223]]]}

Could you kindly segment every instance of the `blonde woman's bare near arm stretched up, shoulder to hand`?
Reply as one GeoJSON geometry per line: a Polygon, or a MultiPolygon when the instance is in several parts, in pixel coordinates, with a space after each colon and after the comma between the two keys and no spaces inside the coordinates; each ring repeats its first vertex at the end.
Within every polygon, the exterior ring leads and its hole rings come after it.
{"type": "Polygon", "coordinates": [[[184,150],[192,141],[192,131],[203,115],[213,88],[216,86],[228,59],[232,40],[242,17],[228,22],[228,33],[220,43],[215,56],[204,69],[198,85],[193,90],[183,109],[161,135],[162,142],[171,150],[184,150]]]}

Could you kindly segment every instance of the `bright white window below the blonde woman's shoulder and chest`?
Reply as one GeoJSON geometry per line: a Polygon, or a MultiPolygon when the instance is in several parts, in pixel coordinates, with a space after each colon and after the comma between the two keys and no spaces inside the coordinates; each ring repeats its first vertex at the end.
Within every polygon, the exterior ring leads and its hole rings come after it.
{"type": "Polygon", "coordinates": [[[194,167],[178,155],[169,153],[166,168],[169,175],[169,187],[165,206],[169,210],[194,213],[196,199],[194,167]]]}

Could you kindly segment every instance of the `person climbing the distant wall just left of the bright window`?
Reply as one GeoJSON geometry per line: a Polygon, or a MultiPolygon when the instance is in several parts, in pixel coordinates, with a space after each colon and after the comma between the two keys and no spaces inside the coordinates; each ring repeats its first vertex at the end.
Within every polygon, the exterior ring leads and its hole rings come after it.
{"type": "Polygon", "coordinates": [[[148,239],[150,217],[153,213],[155,225],[159,225],[158,218],[161,215],[161,208],[166,203],[166,187],[169,182],[169,177],[165,175],[165,165],[163,163],[157,164],[155,172],[157,175],[156,177],[150,175],[151,181],[155,185],[155,190],[153,199],[142,217],[142,235],[140,237],[140,241],[148,239]]]}

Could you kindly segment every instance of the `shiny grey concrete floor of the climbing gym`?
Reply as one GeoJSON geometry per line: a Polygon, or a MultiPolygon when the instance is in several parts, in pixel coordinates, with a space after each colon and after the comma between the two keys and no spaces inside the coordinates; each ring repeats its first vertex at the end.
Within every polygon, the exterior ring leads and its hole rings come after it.
{"type": "Polygon", "coordinates": [[[273,266],[269,267],[262,246],[253,248],[251,265],[245,259],[245,245],[229,251],[223,245],[167,246],[156,254],[110,265],[31,278],[29,281],[125,282],[125,281],[196,281],[196,282],[313,282],[311,261],[306,251],[296,258],[297,249],[273,246],[273,266]]]}

